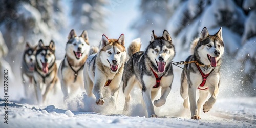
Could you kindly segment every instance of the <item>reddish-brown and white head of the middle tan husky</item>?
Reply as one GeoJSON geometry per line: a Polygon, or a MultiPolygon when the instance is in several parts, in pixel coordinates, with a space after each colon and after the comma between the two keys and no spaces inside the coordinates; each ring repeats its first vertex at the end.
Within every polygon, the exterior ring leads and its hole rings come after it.
{"type": "Polygon", "coordinates": [[[106,35],[102,35],[100,49],[102,63],[112,72],[117,72],[126,59],[124,35],[121,34],[118,39],[109,39],[106,35]]]}

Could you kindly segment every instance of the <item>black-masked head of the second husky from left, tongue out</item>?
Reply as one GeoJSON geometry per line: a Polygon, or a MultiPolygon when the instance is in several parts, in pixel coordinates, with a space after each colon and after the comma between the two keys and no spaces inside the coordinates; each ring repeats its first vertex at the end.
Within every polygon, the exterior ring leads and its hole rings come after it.
{"type": "Polygon", "coordinates": [[[39,40],[39,44],[36,50],[36,63],[44,73],[48,73],[49,68],[53,66],[55,62],[55,44],[51,40],[49,46],[45,46],[42,40],[39,40]]]}

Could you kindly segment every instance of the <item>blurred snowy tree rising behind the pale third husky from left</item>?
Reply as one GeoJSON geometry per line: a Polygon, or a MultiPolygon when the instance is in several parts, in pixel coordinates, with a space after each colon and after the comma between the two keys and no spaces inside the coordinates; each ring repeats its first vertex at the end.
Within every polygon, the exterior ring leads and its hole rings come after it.
{"type": "Polygon", "coordinates": [[[105,4],[104,0],[73,1],[72,3],[73,19],[70,26],[78,33],[87,30],[91,45],[98,44],[102,33],[106,32],[104,20],[108,11],[104,7],[105,4]]]}

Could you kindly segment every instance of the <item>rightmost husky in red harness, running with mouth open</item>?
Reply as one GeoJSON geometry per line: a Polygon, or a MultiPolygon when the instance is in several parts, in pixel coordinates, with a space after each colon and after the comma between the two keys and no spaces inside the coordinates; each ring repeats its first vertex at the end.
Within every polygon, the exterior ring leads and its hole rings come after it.
{"type": "Polygon", "coordinates": [[[214,105],[219,93],[221,56],[224,53],[222,29],[209,35],[204,27],[200,37],[195,39],[191,45],[193,55],[186,61],[194,61],[184,66],[181,74],[180,94],[184,99],[183,106],[189,107],[190,102],[191,119],[200,119],[202,104],[208,94],[211,97],[203,105],[203,111],[208,112],[214,105]],[[199,90],[199,99],[196,101],[196,90],[199,90]]]}

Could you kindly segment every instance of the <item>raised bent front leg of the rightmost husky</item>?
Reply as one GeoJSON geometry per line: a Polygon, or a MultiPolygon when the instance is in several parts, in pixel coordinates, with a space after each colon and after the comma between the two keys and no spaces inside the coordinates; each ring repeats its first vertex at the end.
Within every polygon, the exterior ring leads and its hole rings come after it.
{"type": "Polygon", "coordinates": [[[215,87],[209,87],[209,92],[211,94],[211,97],[206,101],[203,105],[203,111],[208,112],[216,102],[217,96],[219,94],[219,88],[217,86],[215,87]]]}

